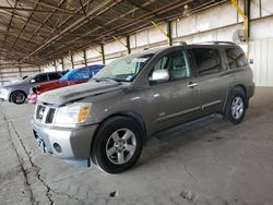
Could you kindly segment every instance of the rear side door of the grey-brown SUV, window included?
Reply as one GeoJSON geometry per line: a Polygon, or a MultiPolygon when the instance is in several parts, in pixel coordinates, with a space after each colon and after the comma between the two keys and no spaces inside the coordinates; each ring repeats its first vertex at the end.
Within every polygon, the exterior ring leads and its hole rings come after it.
{"type": "Polygon", "coordinates": [[[202,114],[221,111],[227,95],[229,76],[223,70],[219,50],[215,48],[193,48],[197,81],[200,88],[202,114]]]}

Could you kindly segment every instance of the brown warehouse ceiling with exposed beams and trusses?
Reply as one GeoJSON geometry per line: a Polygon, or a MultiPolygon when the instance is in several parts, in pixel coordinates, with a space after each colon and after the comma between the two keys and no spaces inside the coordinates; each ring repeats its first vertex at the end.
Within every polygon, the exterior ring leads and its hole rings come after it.
{"type": "Polygon", "coordinates": [[[0,0],[0,60],[43,64],[223,0],[0,0]]]}

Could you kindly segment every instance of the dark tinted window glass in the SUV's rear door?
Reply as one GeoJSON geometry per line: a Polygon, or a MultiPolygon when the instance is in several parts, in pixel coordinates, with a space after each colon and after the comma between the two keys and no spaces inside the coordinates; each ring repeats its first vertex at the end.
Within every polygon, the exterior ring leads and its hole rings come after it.
{"type": "Polygon", "coordinates": [[[193,48],[198,73],[201,75],[218,72],[221,70],[219,51],[213,48],[193,48]]]}

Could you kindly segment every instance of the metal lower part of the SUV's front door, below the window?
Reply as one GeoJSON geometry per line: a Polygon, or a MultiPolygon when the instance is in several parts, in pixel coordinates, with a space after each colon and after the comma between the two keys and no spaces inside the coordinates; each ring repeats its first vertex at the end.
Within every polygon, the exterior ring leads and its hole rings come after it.
{"type": "MultiPolygon", "coordinates": [[[[191,77],[153,86],[149,99],[153,105],[153,124],[166,129],[199,116],[199,88],[190,88],[191,77]]],[[[159,128],[159,129],[158,129],[159,128]]]]}

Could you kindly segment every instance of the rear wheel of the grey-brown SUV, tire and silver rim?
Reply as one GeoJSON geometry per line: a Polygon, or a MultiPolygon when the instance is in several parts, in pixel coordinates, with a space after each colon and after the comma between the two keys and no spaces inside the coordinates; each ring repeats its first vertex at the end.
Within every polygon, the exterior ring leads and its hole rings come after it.
{"type": "Polygon", "coordinates": [[[240,123],[246,113],[247,108],[247,97],[246,93],[240,87],[235,87],[228,96],[226,108],[225,108],[225,118],[233,124],[240,123]]]}

